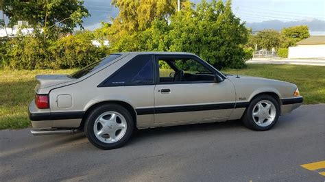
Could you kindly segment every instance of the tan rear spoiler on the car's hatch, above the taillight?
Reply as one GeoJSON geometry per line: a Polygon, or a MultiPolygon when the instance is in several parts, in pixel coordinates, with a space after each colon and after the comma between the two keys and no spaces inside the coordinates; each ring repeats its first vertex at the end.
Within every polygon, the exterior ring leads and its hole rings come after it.
{"type": "Polygon", "coordinates": [[[38,88],[47,88],[75,80],[68,75],[36,75],[35,79],[38,81],[38,88]]]}

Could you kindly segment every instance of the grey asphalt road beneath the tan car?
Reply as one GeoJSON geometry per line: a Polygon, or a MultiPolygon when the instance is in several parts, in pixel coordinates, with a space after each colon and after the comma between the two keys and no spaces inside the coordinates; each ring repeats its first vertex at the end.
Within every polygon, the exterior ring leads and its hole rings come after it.
{"type": "Polygon", "coordinates": [[[145,129],[112,151],[82,133],[0,131],[0,181],[324,181],[300,166],[325,159],[324,118],[325,105],[303,105],[264,132],[238,121],[145,129]]]}

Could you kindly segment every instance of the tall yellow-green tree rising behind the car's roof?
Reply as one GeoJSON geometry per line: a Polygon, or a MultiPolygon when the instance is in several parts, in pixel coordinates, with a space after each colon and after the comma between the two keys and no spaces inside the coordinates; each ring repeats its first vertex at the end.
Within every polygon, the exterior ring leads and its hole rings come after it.
{"type": "MultiPolygon", "coordinates": [[[[182,3],[188,0],[181,0],[182,3]]],[[[119,14],[112,19],[112,25],[102,27],[110,42],[110,50],[146,51],[152,40],[150,34],[160,32],[157,23],[167,25],[169,17],[176,12],[177,1],[174,0],[113,0],[112,4],[119,8],[119,14]]],[[[159,36],[157,35],[156,38],[159,36]]],[[[156,48],[150,48],[155,49],[156,48]]]]}

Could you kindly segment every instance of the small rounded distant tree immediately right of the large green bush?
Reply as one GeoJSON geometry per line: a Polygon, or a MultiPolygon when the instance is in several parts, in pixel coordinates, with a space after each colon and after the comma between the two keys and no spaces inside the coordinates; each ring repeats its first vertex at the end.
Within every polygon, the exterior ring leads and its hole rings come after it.
{"type": "Polygon", "coordinates": [[[259,31],[254,37],[258,49],[267,49],[271,51],[272,48],[279,48],[282,44],[282,36],[280,32],[274,29],[264,29],[259,31]]]}

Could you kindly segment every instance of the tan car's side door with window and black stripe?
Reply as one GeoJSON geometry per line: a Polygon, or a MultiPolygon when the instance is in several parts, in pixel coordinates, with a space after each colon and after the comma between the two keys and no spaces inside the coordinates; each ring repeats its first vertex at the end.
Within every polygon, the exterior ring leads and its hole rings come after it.
{"type": "Polygon", "coordinates": [[[155,123],[210,122],[230,116],[235,105],[234,86],[228,79],[215,83],[214,68],[193,55],[156,55],[155,60],[155,123]],[[180,70],[182,80],[178,78],[180,70]]]}

